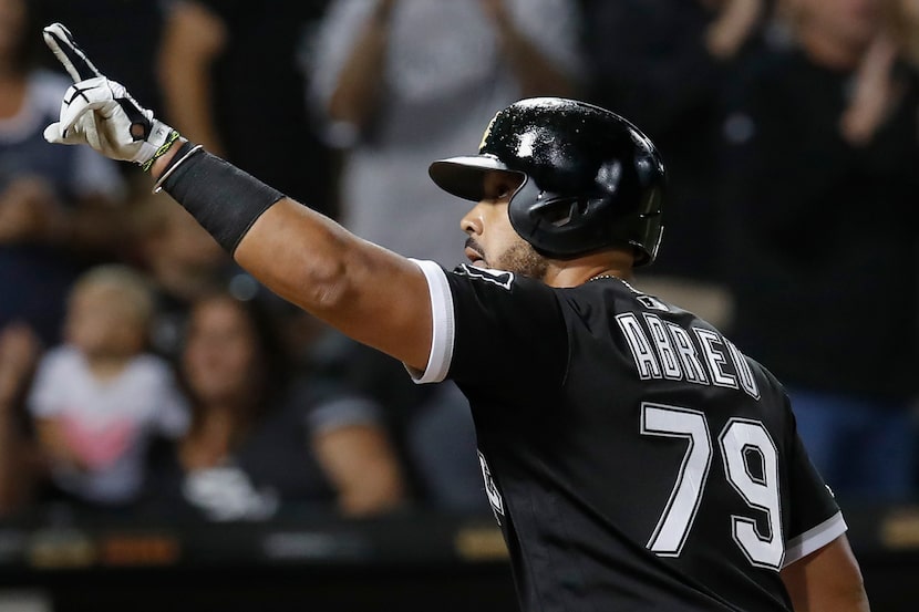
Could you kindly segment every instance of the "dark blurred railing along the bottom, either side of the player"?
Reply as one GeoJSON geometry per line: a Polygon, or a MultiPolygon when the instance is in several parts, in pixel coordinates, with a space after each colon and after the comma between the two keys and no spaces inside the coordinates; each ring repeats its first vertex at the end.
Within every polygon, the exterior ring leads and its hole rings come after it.
{"type": "MultiPolygon", "coordinates": [[[[846,511],[872,612],[919,610],[919,505],[846,511]]],[[[0,523],[0,612],[514,612],[488,517],[0,523]]]]}

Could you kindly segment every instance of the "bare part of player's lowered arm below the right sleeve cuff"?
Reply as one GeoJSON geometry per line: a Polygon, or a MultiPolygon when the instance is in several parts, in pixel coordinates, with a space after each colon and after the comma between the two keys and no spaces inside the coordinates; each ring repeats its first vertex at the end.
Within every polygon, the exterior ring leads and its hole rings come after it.
{"type": "Polygon", "coordinates": [[[868,612],[861,570],[845,535],[785,567],[795,612],[868,612]]]}

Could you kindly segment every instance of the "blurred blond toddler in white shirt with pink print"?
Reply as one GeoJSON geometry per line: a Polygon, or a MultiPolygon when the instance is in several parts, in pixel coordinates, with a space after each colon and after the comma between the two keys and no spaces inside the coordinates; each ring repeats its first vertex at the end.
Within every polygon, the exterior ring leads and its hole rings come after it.
{"type": "Polygon", "coordinates": [[[50,484],[69,501],[128,507],[143,487],[151,438],[188,425],[171,366],[145,352],[152,311],[140,273],[93,268],[71,292],[66,342],[39,363],[28,407],[50,484]]]}

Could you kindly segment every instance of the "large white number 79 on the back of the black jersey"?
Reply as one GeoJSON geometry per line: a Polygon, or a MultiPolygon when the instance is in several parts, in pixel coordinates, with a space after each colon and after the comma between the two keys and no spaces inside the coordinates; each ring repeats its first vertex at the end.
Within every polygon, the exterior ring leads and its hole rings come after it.
{"type": "MultiPolygon", "coordinates": [[[[641,406],[641,433],[648,436],[685,438],[688,442],[677,483],[648,541],[660,557],[679,557],[692,529],[709,469],[712,439],[705,415],[699,411],[646,403],[641,406]]],[[[732,418],[717,437],[727,481],[744,502],[765,512],[768,533],[756,529],[750,517],[731,517],[731,536],[747,560],[757,567],[779,569],[785,554],[778,495],[778,453],[770,433],[758,421],[732,418]],[[762,475],[754,476],[750,454],[758,454],[762,475]]]]}

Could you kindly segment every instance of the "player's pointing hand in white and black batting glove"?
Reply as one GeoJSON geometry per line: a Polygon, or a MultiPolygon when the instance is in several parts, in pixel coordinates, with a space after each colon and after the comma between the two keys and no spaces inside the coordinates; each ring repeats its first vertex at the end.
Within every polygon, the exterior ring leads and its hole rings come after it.
{"type": "Polygon", "coordinates": [[[86,144],[112,159],[145,167],[178,134],[131,97],[121,83],[105,77],[61,23],[44,29],[44,42],[74,84],[61,102],[60,121],[44,129],[49,143],[86,144]]]}

